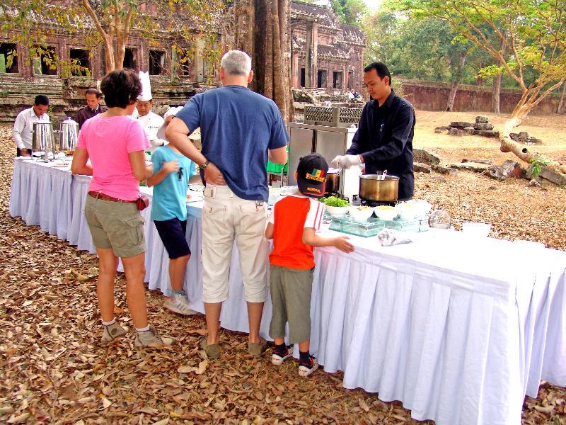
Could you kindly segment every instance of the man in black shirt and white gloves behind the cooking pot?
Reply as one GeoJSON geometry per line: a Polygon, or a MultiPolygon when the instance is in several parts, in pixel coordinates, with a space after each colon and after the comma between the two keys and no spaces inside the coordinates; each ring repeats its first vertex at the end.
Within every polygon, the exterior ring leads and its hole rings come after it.
{"type": "Polygon", "coordinates": [[[385,64],[374,62],[364,69],[364,86],[373,100],[366,103],[352,146],[333,159],[341,168],[365,163],[365,174],[387,170],[399,177],[399,200],[412,198],[412,136],[415,110],[391,89],[385,64]]]}

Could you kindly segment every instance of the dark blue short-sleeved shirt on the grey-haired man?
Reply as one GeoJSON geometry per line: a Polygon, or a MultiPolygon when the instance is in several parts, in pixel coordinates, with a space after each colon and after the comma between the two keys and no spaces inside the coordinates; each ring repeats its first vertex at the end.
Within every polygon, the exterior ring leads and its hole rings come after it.
{"type": "Polygon", "coordinates": [[[238,198],[267,201],[267,150],[289,142],[274,101],[247,87],[224,86],[193,96],[175,117],[191,132],[200,127],[202,154],[238,198]]]}

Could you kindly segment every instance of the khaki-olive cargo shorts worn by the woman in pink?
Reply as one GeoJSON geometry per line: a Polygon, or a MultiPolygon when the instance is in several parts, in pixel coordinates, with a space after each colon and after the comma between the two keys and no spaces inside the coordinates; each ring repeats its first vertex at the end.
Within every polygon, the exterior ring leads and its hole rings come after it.
{"type": "Polygon", "coordinates": [[[144,219],[135,203],[113,202],[87,195],[84,215],[97,248],[112,249],[115,256],[126,259],[146,250],[144,219]]]}

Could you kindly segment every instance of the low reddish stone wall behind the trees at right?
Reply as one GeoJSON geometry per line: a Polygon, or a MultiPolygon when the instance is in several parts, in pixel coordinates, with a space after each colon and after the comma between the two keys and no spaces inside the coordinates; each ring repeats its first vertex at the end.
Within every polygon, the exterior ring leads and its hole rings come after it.
{"type": "MultiPolygon", "coordinates": [[[[395,81],[394,81],[395,82],[395,81]]],[[[451,89],[450,83],[398,79],[403,85],[403,94],[412,106],[425,111],[444,111],[451,89]]],[[[558,107],[558,91],[548,96],[533,108],[531,114],[545,115],[555,113],[558,107]]],[[[499,107],[502,113],[511,113],[521,98],[519,90],[502,89],[499,107]]],[[[454,111],[491,111],[491,87],[461,84],[456,93],[454,111]]]]}

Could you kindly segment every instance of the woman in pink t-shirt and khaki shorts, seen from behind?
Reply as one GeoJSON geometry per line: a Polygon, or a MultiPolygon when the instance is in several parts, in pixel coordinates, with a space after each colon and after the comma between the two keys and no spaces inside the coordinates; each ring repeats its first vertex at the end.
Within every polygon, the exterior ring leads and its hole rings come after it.
{"type": "Polygon", "coordinates": [[[113,341],[126,333],[114,319],[114,280],[120,257],[126,274],[127,305],[136,327],[135,346],[161,348],[175,340],[159,336],[147,322],[144,219],[136,203],[139,181],[151,176],[153,170],[145,162],[144,149],[149,148],[145,132],[128,116],[141,93],[141,82],[132,70],[121,69],[107,74],[100,90],[108,111],[83,124],[71,171],[93,176],[85,217],[98,253],[96,293],[104,327],[102,341],[113,341]]]}

